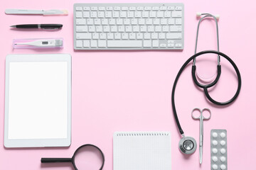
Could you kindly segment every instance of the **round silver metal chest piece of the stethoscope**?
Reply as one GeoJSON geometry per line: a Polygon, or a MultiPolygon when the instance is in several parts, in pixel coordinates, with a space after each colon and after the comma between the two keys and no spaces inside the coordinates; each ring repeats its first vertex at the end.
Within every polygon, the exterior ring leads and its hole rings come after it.
{"type": "Polygon", "coordinates": [[[193,137],[182,137],[178,148],[183,154],[193,154],[196,151],[196,140],[193,137]]]}

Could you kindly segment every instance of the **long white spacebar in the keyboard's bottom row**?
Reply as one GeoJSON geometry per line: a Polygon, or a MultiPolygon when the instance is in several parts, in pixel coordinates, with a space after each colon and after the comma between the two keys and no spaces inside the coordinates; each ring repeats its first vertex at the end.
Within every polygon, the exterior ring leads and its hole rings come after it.
{"type": "Polygon", "coordinates": [[[107,47],[142,47],[142,40],[108,40],[107,47]]]}

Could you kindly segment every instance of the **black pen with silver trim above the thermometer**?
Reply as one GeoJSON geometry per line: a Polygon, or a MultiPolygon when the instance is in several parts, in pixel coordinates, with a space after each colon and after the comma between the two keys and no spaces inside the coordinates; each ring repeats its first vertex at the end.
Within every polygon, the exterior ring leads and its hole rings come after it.
{"type": "Polygon", "coordinates": [[[48,30],[53,30],[53,29],[60,29],[63,27],[62,24],[23,24],[23,25],[16,25],[16,26],[11,26],[12,28],[42,28],[42,29],[48,29],[48,30]]]}

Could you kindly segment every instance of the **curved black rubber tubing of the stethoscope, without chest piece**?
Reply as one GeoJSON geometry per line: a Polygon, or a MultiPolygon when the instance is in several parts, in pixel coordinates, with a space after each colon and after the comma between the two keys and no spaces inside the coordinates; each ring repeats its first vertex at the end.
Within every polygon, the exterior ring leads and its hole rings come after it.
{"type": "MultiPolygon", "coordinates": [[[[240,72],[239,72],[239,69],[238,67],[236,66],[235,62],[233,62],[233,60],[230,59],[230,57],[228,57],[228,55],[225,55],[224,53],[222,52],[218,52],[218,51],[215,51],[215,50],[206,50],[206,51],[202,51],[202,52],[198,52],[196,53],[195,55],[191,56],[190,58],[188,58],[188,60],[186,60],[186,62],[182,65],[181,69],[178,71],[178,74],[176,76],[176,79],[174,81],[174,86],[173,86],[173,89],[172,89],[172,92],[171,92],[171,105],[172,105],[172,108],[173,108],[173,112],[174,112],[174,118],[176,120],[176,124],[177,124],[177,127],[178,127],[178,130],[180,132],[181,135],[183,135],[183,130],[181,128],[181,124],[179,123],[179,120],[178,120],[178,115],[177,115],[177,112],[176,112],[176,106],[175,106],[175,101],[174,101],[174,96],[175,96],[175,89],[176,89],[176,85],[178,83],[178,79],[179,77],[181,77],[181,73],[183,72],[183,69],[186,68],[186,66],[188,65],[189,62],[191,62],[191,60],[195,59],[196,57],[200,56],[200,55],[204,55],[204,54],[208,54],[208,53],[213,53],[213,54],[216,54],[216,55],[220,55],[222,57],[224,57],[226,60],[228,60],[228,62],[230,62],[230,64],[232,64],[232,66],[234,67],[235,69],[235,72],[238,76],[238,89],[235,93],[235,95],[233,96],[233,98],[231,98],[229,101],[225,101],[225,102],[219,102],[219,101],[215,101],[213,98],[210,97],[210,95],[208,94],[208,88],[210,86],[212,86],[213,83],[209,84],[209,85],[205,85],[203,86],[203,91],[204,93],[206,94],[206,97],[208,98],[208,100],[216,105],[220,105],[220,106],[225,106],[225,105],[228,105],[230,103],[232,103],[233,101],[235,101],[235,99],[238,97],[239,93],[240,93],[240,89],[241,89],[241,86],[242,86],[242,81],[241,81],[241,75],[240,75],[240,72]]],[[[219,65],[220,66],[220,65],[219,65]]],[[[219,73],[218,73],[219,74],[219,73]]],[[[220,75],[217,75],[217,77],[219,77],[220,75]]],[[[216,79],[215,79],[216,80],[216,79]]],[[[193,79],[193,81],[195,81],[195,79],[193,79]]],[[[218,80],[217,80],[218,81],[218,80]]],[[[214,82],[214,84],[217,83],[214,82]]],[[[214,85],[213,84],[213,85],[214,85]]]]}

